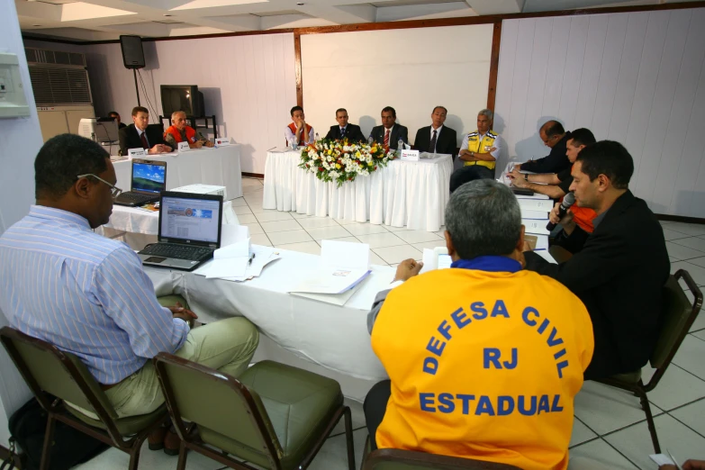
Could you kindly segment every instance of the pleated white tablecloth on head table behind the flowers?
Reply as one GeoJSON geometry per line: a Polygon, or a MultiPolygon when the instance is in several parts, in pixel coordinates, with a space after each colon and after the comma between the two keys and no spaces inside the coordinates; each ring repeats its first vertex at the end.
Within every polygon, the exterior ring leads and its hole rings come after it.
{"type": "Polygon", "coordinates": [[[267,153],[262,207],[348,221],[438,231],[444,224],[453,162],[450,155],[394,160],[371,176],[338,187],[299,168],[300,152],[267,153]]]}

